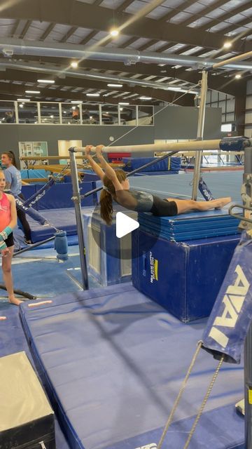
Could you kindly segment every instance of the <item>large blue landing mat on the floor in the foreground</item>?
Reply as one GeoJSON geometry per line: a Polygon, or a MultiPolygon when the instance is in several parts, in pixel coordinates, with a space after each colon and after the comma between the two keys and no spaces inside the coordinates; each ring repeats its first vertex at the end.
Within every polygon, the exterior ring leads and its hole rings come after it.
{"type": "MultiPolygon", "coordinates": [[[[143,441],[147,433],[144,443],[157,442],[155,431],[167,420],[205,321],[182,324],[127,283],[64,295],[38,308],[25,304],[20,316],[71,449],[136,448],[129,438],[143,441]]],[[[175,420],[197,413],[216,365],[200,352],[175,420]]],[[[231,407],[243,390],[242,367],[225,364],[206,411],[231,407]]],[[[230,431],[225,421],[220,441],[230,431]]],[[[230,431],[235,444],[243,441],[240,432],[230,431]]],[[[173,441],[172,449],[179,449],[175,434],[173,441]]]]}

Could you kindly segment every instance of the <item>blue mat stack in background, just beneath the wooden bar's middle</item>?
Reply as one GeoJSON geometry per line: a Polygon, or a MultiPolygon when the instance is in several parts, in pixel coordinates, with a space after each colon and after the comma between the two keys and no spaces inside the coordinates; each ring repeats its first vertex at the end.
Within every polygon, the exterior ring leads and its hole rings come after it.
{"type": "MultiPolygon", "coordinates": [[[[137,159],[132,157],[123,158],[123,163],[125,163],[124,170],[132,171],[136,168],[144,166],[145,163],[151,161],[157,161],[156,157],[139,157],[137,159]]],[[[167,159],[162,159],[154,163],[152,166],[146,167],[141,170],[141,173],[145,172],[155,172],[155,171],[169,171],[169,170],[180,170],[181,168],[181,158],[180,157],[168,157],[167,159]]]]}

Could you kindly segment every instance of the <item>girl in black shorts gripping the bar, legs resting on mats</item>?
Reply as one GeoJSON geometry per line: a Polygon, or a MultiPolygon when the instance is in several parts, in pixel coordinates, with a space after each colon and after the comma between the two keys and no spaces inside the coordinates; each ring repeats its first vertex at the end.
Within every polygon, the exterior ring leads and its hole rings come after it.
{"type": "Polygon", "coordinates": [[[93,145],[85,147],[85,157],[94,172],[102,180],[104,186],[100,196],[101,216],[107,225],[111,225],[113,217],[113,201],[126,209],[137,212],[150,212],[158,217],[171,217],[181,213],[223,208],[231,198],[219,198],[212,201],[194,201],[192,199],[161,199],[159,196],[130,189],[130,182],[123,170],[113,170],[102,155],[104,145],[96,147],[96,154],[102,168],[90,155],[93,145]]]}

